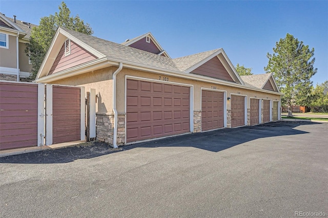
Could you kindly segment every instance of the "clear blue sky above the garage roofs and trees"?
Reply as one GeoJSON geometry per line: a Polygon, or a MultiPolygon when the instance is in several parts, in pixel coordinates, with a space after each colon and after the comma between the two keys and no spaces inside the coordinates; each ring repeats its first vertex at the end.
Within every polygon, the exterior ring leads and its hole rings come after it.
{"type": "MultiPolygon", "coordinates": [[[[0,1],[6,16],[38,24],[61,1],[0,1]]],[[[172,58],[223,48],[231,62],[264,73],[286,33],[315,49],[314,85],[328,80],[328,1],[65,1],[94,36],[121,43],[152,32],[172,58]]]]}

